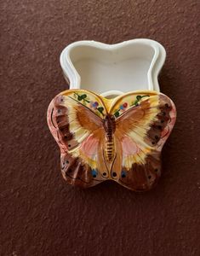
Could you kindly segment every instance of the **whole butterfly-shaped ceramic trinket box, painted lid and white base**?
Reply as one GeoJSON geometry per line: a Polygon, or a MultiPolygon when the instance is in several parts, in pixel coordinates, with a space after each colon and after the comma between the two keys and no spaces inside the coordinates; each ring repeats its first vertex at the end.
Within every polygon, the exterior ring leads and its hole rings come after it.
{"type": "Polygon", "coordinates": [[[165,50],[150,39],[121,44],[79,41],[60,55],[70,90],[48,108],[67,183],[89,188],[113,180],[146,191],[161,175],[161,151],[176,118],[159,92],[165,50]]]}

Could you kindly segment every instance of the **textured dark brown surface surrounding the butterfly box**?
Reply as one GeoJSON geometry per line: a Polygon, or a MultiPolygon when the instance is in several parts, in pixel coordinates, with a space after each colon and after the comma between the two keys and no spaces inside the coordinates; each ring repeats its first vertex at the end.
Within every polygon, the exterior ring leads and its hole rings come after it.
{"type": "Polygon", "coordinates": [[[1,1],[0,255],[200,255],[198,3],[1,1]],[[163,176],[140,195],[111,182],[73,188],[46,124],[50,100],[66,89],[60,51],[131,38],[167,50],[160,84],[178,119],[163,176]]]}

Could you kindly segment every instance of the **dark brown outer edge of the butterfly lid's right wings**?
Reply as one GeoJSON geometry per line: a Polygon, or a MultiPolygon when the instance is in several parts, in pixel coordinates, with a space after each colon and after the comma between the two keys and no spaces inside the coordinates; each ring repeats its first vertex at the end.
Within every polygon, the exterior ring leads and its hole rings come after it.
{"type": "Polygon", "coordinates": [[[146,155],[145,165],[133,164],[130,170],[123,168],[121,177],[118,178],[117,182],[127,189],[136,192],[150,190],[156,186],[161,176],[161,150],[174,127],[176,109],[174,102],[163,94],[160,95],[159,109],[157,119],[151,124],[146,136],[146,139],[151,139],[152,146],[158,146],[158,148],[146,155]],[[161,142],[160,145],[159,142],[161,142]]]}

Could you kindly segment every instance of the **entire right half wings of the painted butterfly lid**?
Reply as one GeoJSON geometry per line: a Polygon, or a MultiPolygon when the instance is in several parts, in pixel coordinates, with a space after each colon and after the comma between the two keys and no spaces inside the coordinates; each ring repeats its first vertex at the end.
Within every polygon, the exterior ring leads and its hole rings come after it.
{"type": "Polygon", "coordinates": [[[113,102],[116,116],[116,181],[137,191],[148,190],[161,173],[161,150],[175,123],[174,103],[161,93],[138,91],[113,102]]]}

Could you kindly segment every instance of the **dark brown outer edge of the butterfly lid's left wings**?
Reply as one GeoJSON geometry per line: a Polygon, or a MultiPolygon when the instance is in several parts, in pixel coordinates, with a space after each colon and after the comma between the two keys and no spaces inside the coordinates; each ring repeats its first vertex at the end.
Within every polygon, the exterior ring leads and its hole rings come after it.
{"type": "Polygon", "coordinates": [[[73,157],[68,151],[67,143],[71,141],[72,146],[76,146],[76,141],[73,140],[73,134],[69,130],[68,110],[60,105],[61,97],[60,95],[55,96],[49,104],[47,113],[49,130],[60,147],[61,173],[67,183],[81,188],[89,188],[103,180],[98,175],[94,177],[91,167],[81,158],[73,157]]]}

